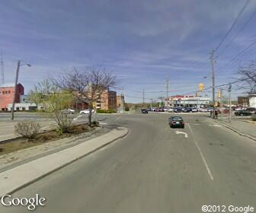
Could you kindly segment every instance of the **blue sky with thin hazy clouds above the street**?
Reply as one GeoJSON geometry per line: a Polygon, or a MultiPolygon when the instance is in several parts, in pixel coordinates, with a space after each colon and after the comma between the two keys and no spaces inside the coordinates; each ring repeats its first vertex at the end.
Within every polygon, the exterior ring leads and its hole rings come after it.
{"type": "MultiPolygon", "coordinates": [[[[210,51],[231,27],[245,0],[156,1],[2,1],[0,49],[4,53],[5,81],[13,82],[18,59],[20,82],[26,92],[43,78],[72,67],[104,66],[119,79],[118,92],[126,101],[197,91],[210,86],[210,51]]],[[[219,48],[216,84],[233,81],[238,67],[255,58],[255,46],[230,60],[256,40],[256,10],[251,1],[229,37],[219,48]],[[226,48],[226,45],[236,37],[226,48]]],[[[233,91],[232,97],[242,91],[233,91]]]]}

